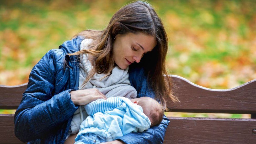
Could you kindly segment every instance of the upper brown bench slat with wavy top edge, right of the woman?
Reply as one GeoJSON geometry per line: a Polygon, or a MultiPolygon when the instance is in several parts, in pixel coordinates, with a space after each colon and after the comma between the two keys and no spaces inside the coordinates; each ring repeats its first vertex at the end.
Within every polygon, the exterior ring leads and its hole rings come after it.
{"type": "Polygon", "coordinates": [[[181,103],[170,100],[171,112],[255,114],[256,79],[232,89],[209,89],[172,75],[173,93],[181,103]]]}

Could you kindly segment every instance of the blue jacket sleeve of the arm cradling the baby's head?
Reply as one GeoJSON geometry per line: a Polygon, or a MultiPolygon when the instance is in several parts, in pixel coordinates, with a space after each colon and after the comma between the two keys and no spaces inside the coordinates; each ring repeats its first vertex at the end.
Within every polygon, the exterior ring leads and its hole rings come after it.
{"type": "MultiPolygon", "coordinates": [[[[154,93],[147,87],[147,77],[142,68],[129,68],[129,79],[131,85],[137,90],[138,97],[147,96],[154,98],[154,93]]],[[[169,119],[164,115],[162,122],[158,126],[151,127],[143,132],[132,132],[119,137],[117,140],[121,140],[127,144],[163,143],[169,122],[169,119]]]]}

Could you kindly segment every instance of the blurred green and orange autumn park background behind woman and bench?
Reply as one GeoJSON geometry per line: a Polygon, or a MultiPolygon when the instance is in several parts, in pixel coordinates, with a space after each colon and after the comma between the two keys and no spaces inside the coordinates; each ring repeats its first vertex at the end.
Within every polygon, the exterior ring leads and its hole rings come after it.
{"type": "MultiPolygon", "coordinates": [[[[0,2],[0,84],[28,82],[50,49],[85,29],[104,29],[131,1],[0,2]]],[[[256,1],[148,1],[165,26],[170,74],[200,86],[229,89],[256,78],[256,1]]],[[[15,110],[0,110],[2,114],[15,110]]],[[[246,114],[166,113],[169,116],[250,118],[246,114]]]]}

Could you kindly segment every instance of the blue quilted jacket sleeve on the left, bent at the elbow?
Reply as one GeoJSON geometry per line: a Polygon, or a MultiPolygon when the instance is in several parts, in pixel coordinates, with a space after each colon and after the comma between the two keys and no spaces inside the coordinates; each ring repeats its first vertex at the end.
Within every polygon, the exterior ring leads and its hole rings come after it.
{"type": "Polygon", "coordinates": [[[28,87],[14,115],[15,135],[22,142],[44,137],[78,108],[70,98],[72,89],[54,93],[55,64],[54,51],[50,50],[29,75],[28,87]]]}

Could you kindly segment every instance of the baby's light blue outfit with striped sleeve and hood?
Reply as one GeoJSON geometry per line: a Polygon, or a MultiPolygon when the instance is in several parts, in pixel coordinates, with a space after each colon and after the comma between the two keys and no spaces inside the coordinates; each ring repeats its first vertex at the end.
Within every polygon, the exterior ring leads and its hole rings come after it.
{"type": "Polygon", "coordinates": [[[141,106],[125,97],[98,99],[85,105],[85,109],[89,116],[82,122],[75,141],[88,133],[113,141],[131,132],[147,130],[151,125],[141,106]]]}

